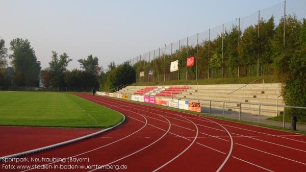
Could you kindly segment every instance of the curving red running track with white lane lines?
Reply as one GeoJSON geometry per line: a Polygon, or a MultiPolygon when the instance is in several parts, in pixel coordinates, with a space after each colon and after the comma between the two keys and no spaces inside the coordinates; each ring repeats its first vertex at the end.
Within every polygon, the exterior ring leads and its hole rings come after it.
{"type": "MultiPolygon", "coordinates": [[[[122,169],[124,171],[305,171],[306,169],[304,135],[108,97],[77,95],[125,114],[126,121],[120,127],[96,137],[27,156],[27,158],[88,158],[89,162],[60,161],[35,164],[50,166],[124,164],[127,166],[127,169],[122,169]]],[[[14,162],[2,164],[16,165],[14,162]]],[[[21,164],[27,165],[33,162],[18,163],[21,164]]],[[[101,169],[77,169],[77,171],[98,170],[101,169]]],[[[41,171],[41,169],[32,168],[27,171],[41,171]]],[[[103,171],[108,170],[103,169],[103,171]]]]}

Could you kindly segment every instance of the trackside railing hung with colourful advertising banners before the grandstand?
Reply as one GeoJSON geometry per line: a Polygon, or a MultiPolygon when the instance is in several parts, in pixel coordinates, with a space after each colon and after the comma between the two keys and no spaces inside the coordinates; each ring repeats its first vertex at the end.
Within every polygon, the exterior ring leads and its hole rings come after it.
{"type": "MultiPolygon", "coordinates": [[[[110,94],[109,92],[101,92],[97,93],[98,95],[106,95],[110,94]]],[[[112,95],[112,94],[111,94],[112,95]]],[[[290,128],[290,123],[288,121],[288,113],[285,113],[287,109],[295,108],[295,109],[304,109],[306,111],[306,107],[292,107],[292,106],[284,106],[284,105],[275,105],[275,104],[260,104],[260,103],[249,103],[249,102],[233,102],[233,101],[217,101],[217,100],[209,100],[209,99],[188,99],[188,98],[179,98],[179,97],[170,97],[170,96],[152,96],[152,95],[137,95],[130,94],[131,98],[129,100],[144,102],[155,105],[168,106],[172,108],[179,108],[183,110],[195,111],[195,112],[203,112],[208,114],[217,115],[220,117],[234,118],[237,120],[245,120],[257,123],[265,123],[268,125],[279,126],[284,128],[290,128]],[[227,104],[227,107],[226,105],[227,104]],[[230,106],[230,107],[229,107],[230,106]],[[283,108],[284,111],[282,113],[283,120],[282,121],[271,121],[267,120],[268,117],[263,115],[263,112],[269,112],[264,107],[275,107],[275,108],[283,108]],[[226,112],[225,112],[226,109],[226,112]],[[234,111],[236,110],[236,111],[234,111]],[[257,111],[258,115],[254,115],[249,111],[257,111]],[[226,115],[226,116],[225,116],[226,115]],[[286,116],[285,116],[286,115],[286,116]]],[[[126,95],[126,97],[129,97],[126,95]]],[[[122,94],[123,97],[123,94],[122,94]]],[[[128,98],[125,98],[126,100],[128,98]]],[[[273,111],[275,114],[275,111],[273,111]]],[[[305,125],[298,124],[298,130],[306,131],[305,125]]]]}

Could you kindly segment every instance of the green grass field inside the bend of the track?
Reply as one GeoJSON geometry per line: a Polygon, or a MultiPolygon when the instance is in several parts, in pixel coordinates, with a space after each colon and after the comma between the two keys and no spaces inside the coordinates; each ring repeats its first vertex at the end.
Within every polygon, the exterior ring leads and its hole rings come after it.
{"type": "Polygon", "coordinates": [[[107,128],[122,115],[69,93],[1,92],[0,125],[107,128]]]}

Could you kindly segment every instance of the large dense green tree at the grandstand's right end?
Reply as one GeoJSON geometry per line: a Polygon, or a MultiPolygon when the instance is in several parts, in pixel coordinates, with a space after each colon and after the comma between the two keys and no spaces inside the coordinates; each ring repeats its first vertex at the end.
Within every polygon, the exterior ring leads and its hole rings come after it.
{"type": "MultiPolygon", "coordinates": [[[[286,17],[283,44],[284,19],[275,29],[272,40],[274,66],[278,78],[284,83],[282,94],[287,106],[306,106],[306,20],[299,21],[296,16],[286,17]]],[[[306,121],[306,110],[288,108],[287,114],[306,121]]]]}

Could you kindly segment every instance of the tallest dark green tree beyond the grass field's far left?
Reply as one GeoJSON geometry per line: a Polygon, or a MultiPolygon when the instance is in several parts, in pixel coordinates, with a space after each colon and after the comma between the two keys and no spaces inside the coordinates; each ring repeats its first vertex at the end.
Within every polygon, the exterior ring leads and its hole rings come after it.
{"type": "Polygon", "coordinates": [[[10,42],[13,54],[13,68],[16,73],[15,81],[18,86],[39,86],[40,62],[37,61],[35,51],[28,39],[13,39],[10,42]]]}

